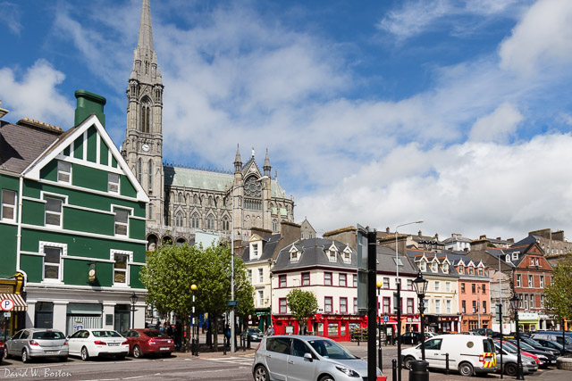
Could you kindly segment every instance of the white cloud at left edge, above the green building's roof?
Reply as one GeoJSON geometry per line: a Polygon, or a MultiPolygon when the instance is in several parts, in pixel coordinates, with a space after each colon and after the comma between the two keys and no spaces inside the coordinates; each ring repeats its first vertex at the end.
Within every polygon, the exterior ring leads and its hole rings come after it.
{"type": "Polygon", "coordinates": [[[44,60],[35,62],[23,75],[20,70],[0,69],[2,105],[10,110],[11,119],[28,117],[67,129],[73,122],[74,106],[57,89],[63,79],[65,75],[44,60]]]}

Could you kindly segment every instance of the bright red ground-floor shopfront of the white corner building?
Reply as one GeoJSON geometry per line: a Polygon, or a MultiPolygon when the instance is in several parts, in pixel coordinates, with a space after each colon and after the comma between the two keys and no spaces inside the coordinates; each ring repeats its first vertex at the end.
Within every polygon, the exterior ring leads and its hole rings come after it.
{"type": "MultiPolygon", "coordinates": [[[[298,335],[299,325],[290,315],[273,315],[274,335],[298,335]]],[[[307,321],[307,335],[329,337],[334,341],[349,341],[350,332],[366,328],[367,318],[356,315],[321,314],[307,321]]]]}

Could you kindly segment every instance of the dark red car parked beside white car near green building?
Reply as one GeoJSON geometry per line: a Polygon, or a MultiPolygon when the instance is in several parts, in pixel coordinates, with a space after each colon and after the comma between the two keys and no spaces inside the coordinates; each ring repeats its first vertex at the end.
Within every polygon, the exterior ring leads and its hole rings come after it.
{"type": "Polygon", "coordinates": [[[130,329],[122,335],[129,342],[129,353],[136,359],[146,354],[169,357],[175,350],[172,338],[156,329],[130,329]]]}

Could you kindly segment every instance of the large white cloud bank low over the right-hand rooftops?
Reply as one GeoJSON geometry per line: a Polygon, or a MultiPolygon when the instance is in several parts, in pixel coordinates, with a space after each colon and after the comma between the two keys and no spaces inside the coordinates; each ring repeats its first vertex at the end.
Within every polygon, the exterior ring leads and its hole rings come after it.
{"type": "Polygon", "coordinates": [[[323,231],[424,219],[421,229],[442,238],[461,232],[519,239],[543,227],[570,231],[572,179],[562,176],[572,161],[570,145],[569,134],[555,134],[520,145],[400,146],[336,186],[299,197],[296,215],[323,231]]]}

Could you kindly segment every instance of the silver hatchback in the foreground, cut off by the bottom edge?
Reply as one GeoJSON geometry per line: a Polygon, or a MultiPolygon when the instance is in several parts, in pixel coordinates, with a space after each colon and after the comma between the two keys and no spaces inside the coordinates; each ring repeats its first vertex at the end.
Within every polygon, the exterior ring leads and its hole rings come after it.
{"type": "Polygon", "coordinates": [[[252,375],[256,381],[356,381],[367,377],[367,362],[325,337],[275,335],[262,339],[252,375]]]}

